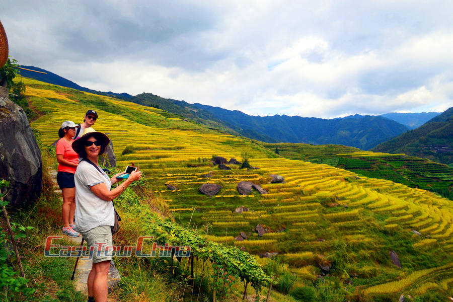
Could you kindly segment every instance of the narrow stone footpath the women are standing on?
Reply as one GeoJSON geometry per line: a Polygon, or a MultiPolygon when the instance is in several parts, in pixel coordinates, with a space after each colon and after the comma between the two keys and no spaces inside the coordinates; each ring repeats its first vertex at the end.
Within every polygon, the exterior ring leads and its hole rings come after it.
{"type": "MultiPolygon", "coordinates": [[[[50,175],[52,176],[52,181],[53,181],[53,190],[55,193],[61,195],[61,190],[59,189],[57,183],[56,183],[56,174],[57,172],[53,168],[49,168],[50,175]]],[[[60,199],[62,200],[62,199],[60,199]]],[[[82,243],[82,236],[79,236],[77,238],[72,238],[72,237],[65,237],[67,240],[73,243],[74,246],[80,246],[82,243]]],[[[87,244],[84,242],[84,245],[86,246],[87,244]]],[[[74,275],[74,288],[78,291],[81,291],[84,295],[88,296],[88,289],[87,289],[87,280],[88,280],[88,274],[91,271],[91,267],[93,265],[93,261],[90,260],[85,260],[85,259],[79,259],[79,262],[77,264],[77,269],[75,270],[75,275],[74,275]]],[[[118,286],[118,282],[120,281],[121,276],[118,272],[118,270],[115,267],[115,264],[113,261],[110,263],[110,270],[109,270],[109,279],[108,279],[108,284],[109,284],[109,297],[108,300],[109,302],[116,302],[116,295],[114,292],[114,289],[118,286]]]]}

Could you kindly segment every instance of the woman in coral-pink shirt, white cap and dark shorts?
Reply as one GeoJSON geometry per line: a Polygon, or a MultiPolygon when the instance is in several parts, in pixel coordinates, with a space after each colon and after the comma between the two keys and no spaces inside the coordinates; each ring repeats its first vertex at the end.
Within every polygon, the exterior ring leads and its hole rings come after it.
{"type": "Polygon", "coordinates": [[[56,144],[56,157],[58,162],[57,183],[63,193],[63,207],[61,214],[63,218],[63,234],[69,237],[79,237],[74,230],[75,212],[75,183],[74,173],[79,165],[79,155],[72,149],[72,137],[75,135],[75,128],[79,127],[72,121],[64,121],[58,130],[60,139],[56,144]]]}

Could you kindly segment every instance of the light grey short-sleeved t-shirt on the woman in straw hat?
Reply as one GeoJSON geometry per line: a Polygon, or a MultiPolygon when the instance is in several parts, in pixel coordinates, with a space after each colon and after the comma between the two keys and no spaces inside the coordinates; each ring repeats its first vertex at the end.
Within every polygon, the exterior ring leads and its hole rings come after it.
{"type": "MultiPolygon", "coordinates": [[[[101,170],[102,171],[102,170],[101,170]]],[[[99,225],[113,225],[115,210],[112,201],[105,201],[96,196],[91,187],[105,183],[110,190],[112,183],[108,175],[99,172],[86,161],[80,162],[74,174],[75,181],[75,227],[86,233],[99,225]]]]}

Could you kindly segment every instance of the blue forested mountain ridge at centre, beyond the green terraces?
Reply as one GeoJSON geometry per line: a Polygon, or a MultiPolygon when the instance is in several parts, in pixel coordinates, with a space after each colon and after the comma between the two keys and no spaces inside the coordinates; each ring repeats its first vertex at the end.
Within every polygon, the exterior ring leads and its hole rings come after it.
{"type": "Polygon", "coordinates": [[[253,132],[270,136],[266,142],[304,142],[313,144],[343,144],[369,149],[390,137],[407,131],[407,127],[379,116],[320,119],[300,116],[250,116],[238,110],[226,110],[202,104],[194,106],[211,112],[219,119],[235,125],[244,136],[253,132]]]}

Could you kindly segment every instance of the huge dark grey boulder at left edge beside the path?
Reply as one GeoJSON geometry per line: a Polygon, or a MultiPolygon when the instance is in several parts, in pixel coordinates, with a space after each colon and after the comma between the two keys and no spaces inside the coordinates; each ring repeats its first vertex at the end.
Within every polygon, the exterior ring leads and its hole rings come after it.
{"type": "Polygon", "coordinates": [[[5,200],[27,208],[41,195],[42,161],[24,110],[0,87],[0,178],[10,182],[5,200]]]}

